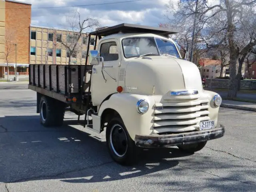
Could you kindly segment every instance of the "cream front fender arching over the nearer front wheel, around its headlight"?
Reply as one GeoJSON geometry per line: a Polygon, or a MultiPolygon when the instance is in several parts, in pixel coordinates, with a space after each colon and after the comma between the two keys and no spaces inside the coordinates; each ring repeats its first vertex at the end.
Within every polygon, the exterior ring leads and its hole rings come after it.
{"type": "Polygon", "coordinates": [[[98,116],[101,117],[106,109],[116,110],[124,121],[130,137],[134,140],[136,134],[149,135],[152,132],[154,104],[152,96],[116,93],[102,103],[98,110],[98,116]],[[136,103],[140,99],[148,101],[149,109],[145,114],[139,114],[136,110],[136,103]]]}

